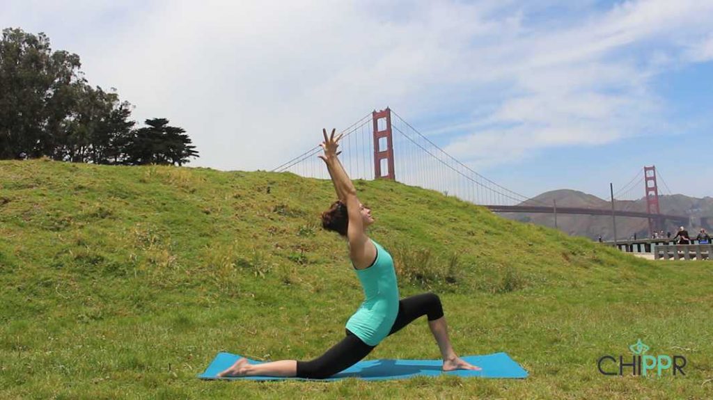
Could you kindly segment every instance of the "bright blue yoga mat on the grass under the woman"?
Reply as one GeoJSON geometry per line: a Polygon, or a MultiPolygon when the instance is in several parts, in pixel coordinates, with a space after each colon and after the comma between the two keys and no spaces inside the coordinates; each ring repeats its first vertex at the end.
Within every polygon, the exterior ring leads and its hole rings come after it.
{"type": "MultiPolygon", "coordinates": [[[[273,381],[282,379],[278,377],[232,377],[219,378],[218,372],[229,368],[241,356],[230,353],[218,353],[205,372],[198,375],[200,379],[250,379],[254,381],[273,381]]],[[[528,372],[513,361],[507,353],[493,353],[483,356],[466,356],[462,359],[473,365],[481,367],[481,371],[456,370],[442,372],[443,361],[440,359],[369,359],[357,362],[344,371],[322,381],[335,381],[344,378],[359,378],[366,380],[404,379],[418,376],[438,377],[439,375],[453,375],[455,377],[481,377],[481,378],[526,378],[528,372]]],[[[250,364],[260,362],[248,359],[250,364]]]]}

